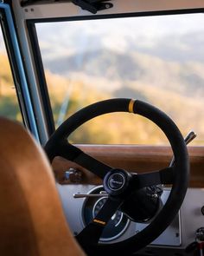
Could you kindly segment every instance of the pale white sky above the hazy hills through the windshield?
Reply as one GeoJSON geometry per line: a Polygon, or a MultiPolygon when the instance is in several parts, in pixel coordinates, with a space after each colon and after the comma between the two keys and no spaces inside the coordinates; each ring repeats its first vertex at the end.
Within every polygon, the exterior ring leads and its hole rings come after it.
{"type": "MultiPolygon", "coordinates": [[[[196,34],[196,36],[201,35],[201,39],[204,40],[203,24],[204,14],[190,14],[38,23],[36,28],[41,47],[57,48],[59,45],[61,49],[55,50],[60,56],[87,47],[92,49],[105,47],[123,53],[130,49],[130,42],[132,46],[135,44],[137,49],[152,49],[163,37],[175,38],[196,34]]],[[[185,47],[182,44],[179,46],[185,47]]]]}

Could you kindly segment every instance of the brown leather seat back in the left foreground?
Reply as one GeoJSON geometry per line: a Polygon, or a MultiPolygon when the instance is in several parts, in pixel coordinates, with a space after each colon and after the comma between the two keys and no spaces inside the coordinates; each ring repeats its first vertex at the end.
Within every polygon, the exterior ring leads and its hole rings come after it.
{"type": "Polygon", "coordinates": [[[21,125],[0,118],[0,255],[84,255],[48,160],[21,125]]]}

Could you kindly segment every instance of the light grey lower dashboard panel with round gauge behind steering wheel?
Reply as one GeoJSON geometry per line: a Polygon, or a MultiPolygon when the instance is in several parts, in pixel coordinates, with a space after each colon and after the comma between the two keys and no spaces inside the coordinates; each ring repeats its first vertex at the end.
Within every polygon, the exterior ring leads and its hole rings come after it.
{"type": "MultiPolygon", "coordinates": [[[[104,188],[92,185],[58,185],[62,205],[73,234],[77,235],[105,203],[104,188]],[[86,198],[74,198],[73,194],[90,194],[86,198]],[[99,195],[100,196],[97,196],[99,195]]],[[[170,189],[163,188],[161,207],[168,199],[170,189]]],[[[185,200],[171,225],[150,246],[144,248],[142,255],[194,255],[185,253],[188,245],[194,242],[196,231],[204,226],[204,189],[188,188],[185,200]]],[[[137,207],[137,206],[134,206],[137,207]]],[[[150,220],[151,221],[151,220],[150,220]]],[[[100,243],[114,243],[126,240],[149,225],[129,220],[118,211],[112,216],[100,243]]],[[[139,254],[140,255],[140,254],[139,254]]]]}

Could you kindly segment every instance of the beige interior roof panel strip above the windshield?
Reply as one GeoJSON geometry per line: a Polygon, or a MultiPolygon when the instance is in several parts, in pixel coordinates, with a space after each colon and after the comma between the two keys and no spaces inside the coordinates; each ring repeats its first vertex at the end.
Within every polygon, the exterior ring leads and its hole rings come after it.
{"type": "Polygon", "coordinates": [[[108,10],[101,10],[97,14],[92,14],[86,10],[81,10],[80,7],[73,3],[64,1],[62,3],[44,3],[34,4],[26,7],[21,7],[21,0],[13,1],[14,10],[17,13],[21,12],[24,19],[42,19],[56,17],[73,17],[73,16],[101,16],[113,14],[131,14],[145,13],[168,10],[201,10],[204,9],[203,0],[112,0],[113,7],[108,10]]]}

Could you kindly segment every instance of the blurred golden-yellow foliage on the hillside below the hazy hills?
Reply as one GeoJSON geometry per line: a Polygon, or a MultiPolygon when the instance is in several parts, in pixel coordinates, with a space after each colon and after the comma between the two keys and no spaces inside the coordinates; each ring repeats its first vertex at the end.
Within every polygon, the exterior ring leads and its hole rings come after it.
{"type": "MultiPolygon", "coordinates": [[[[201,118],[203,103],[198,99],[181,95],[179,91],[150,86],[144,82],[143,87],[141,86],[142,82],[126,82],[123,87],[120,86],[108,92],[107,88],[111,88],[111,82],[109,86],[105,85],[105,90],[99,84],[96,86],[92,79],[89,83],[86,82],[86,79],[82,79],[80,74],[70,81],[65,76],[47,72],[47,80],[55,122],[59,117],[61,102],[66,101],[67,91],[70,90],[64,120],[80,108],[93,102],[115,96],[129,97],[150,102],[158,108],[164,109],[179,125],[183,135],[196,127],[195,131],[204,137],[203,119],[201,118]],[[72,89],[70,89],[71,87],[72,89]]],[[[156,125],[142,117],[127,113],[102,115],[88,121],[78,128],[69,140],[73,143],[91,144],[168,144],[163,132],[156,125]]],[[[202,142],[199,140],[194,144],[196,143],[199,145],[202,142]]]]}

